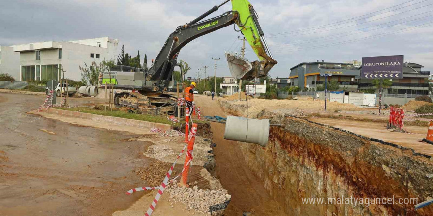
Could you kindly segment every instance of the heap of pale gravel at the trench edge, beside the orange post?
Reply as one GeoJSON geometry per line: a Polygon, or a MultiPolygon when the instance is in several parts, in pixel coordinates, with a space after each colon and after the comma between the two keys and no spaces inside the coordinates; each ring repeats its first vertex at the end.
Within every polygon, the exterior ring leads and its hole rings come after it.
{"type": "Polygon", "coordinates": [[[216,216],[219,214],[218,210],[225,209],[231,199],[226,190],[198,189],[198,186],[186,188],[177,186],[176,180],[174,183],[166,188],[170,193],[172,207],[173,203],[181,202],[186,204],[188,210],[216,216]]]}

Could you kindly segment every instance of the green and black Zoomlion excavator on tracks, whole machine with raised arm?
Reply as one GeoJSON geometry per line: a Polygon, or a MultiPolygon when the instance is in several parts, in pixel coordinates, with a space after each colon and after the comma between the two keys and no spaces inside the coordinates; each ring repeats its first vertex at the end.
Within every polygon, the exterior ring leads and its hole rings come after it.
{"type": "Polygon", "coordinates": [[[176,115],[177,98],[164,92],[167,91],[174,68],[178,66],[181,74],[183,73],[177,58],[181,49],[190,41],[233,25],[235,31],[244,35],[259,59],[249,62],[237,54],[226,52],[225,56],[233,77],[242,80],[265,77],[277,64],[268,48],[258,18],[248,0],[226,0],[193,21],[177,27],[167,38],[149,69],[116,66],[109,72],[104,72],[102,83],[114,84],[116,89],[133,90],[115,94],[114,103],[118,108],[128,107],[141,112],[176,115]],[[229,1],[232,3],[231,11],[203,20],[229,1]]]}

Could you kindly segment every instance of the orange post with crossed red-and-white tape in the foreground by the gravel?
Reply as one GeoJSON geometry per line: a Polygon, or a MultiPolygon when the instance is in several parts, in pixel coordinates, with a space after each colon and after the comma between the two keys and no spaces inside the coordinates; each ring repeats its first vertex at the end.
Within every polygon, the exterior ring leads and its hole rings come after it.
{"type": "MultiPolygon", "coordinates": [[[[171,165],[170,169],[168,170],[168,172],[165,174],[165,178],[164,181],[162,181],[160,186],[156,186],[156,187],[139,187],[139,188],[134,188],[134,189],[130,189],[126,192],[127,195],[130,195],[134,192],[137,191],[144,191],[144,190],[153,190],[153,189],[158,189],[158,193],[156,193],[156,196],[154,198],[154,200],[152,201],[151,205],[149,206],[149,209],[146,211],[145,216],[151,216],[156,204],[159,202],[159,199],[161,198],[162,194],[164,193],[165,188],[167,188],[167,186],[174,182],[177,178],[179,178],[179,176],[182,175],[182,178],[184,178],[185,173],[187,173],[189,171],[189,164],[191,164],[192,162],[192,149],[189,150],[189,145],[194,146],[194,140],[195,140],[195,135],[197,132],[197,124],[193,124],[192,128],[191,128],[191,139],[188,141],[191,141],[192,144],[190,144],[190,142],[188,142],[188,144],[186,144],[184,146],[184,148],[182,149],[182,151],[179,153],[179,155],[177,156],[176,160],[173,162],[173,165],[171,165]],[[182,153],[184,153],[186,146],[188,146],[188,150],[187,150],[187,157],[188,155],[190,155],[189,160],[185,161],[184,164],[184,168],[182,169],[181,173],[179,175],[177,175],[176,177],[170,179],[170,176],[173,172],[173,169],[176,165],[176,162],[178,161],[178,159],[181,157],[182,153]]],[[[187,175],[186,175],[187,178],[187,175]]]]}

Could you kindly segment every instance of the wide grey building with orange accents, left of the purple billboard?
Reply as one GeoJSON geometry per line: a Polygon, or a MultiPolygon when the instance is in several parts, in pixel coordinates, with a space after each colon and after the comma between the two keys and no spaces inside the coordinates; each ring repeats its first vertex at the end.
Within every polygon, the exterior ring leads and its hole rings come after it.
{"type": "Polygon", "coordinates": [[[325,77],[320,74],[332,74],[328,81],[337,81],[340,90],[355,91],[360,78],[359,69],[351,63],[339,62],[303,62],[290,68],[290,85],[315,90],[318,85],[325,85],[325,77]]]}

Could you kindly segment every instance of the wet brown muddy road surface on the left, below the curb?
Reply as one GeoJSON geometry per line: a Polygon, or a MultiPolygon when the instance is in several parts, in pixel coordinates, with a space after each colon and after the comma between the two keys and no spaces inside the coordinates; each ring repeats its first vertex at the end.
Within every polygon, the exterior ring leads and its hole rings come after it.
{"type": "Polygon", "coordinates": [[[0,93],[0,215],[106,216],[137,200],[125,191],[144,184],[132,170],[150,162],[146,144],[121,141],[135,134],[26,114],[44,99],[0,93]]]}

